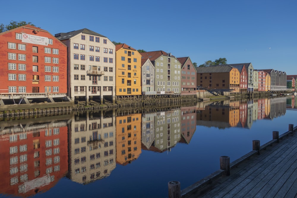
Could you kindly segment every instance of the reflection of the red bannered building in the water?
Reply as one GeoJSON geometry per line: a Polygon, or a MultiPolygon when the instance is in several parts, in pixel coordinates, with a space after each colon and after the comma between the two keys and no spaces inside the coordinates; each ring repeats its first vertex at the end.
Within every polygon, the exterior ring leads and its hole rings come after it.
{"type": "Polygon", "coordinates": [[[0,123],[1,194],[32,196],[67,174],[67,121],[40,120],[0,123]]]}

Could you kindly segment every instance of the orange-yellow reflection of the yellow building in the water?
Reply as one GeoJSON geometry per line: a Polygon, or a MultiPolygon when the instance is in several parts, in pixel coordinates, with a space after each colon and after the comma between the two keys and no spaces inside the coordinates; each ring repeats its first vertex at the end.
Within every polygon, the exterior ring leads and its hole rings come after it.
{"type": "Polygon", "coordinates": [[[116,117],[116,162],[131,163],[141,153],[141,113],[116,117]]]}

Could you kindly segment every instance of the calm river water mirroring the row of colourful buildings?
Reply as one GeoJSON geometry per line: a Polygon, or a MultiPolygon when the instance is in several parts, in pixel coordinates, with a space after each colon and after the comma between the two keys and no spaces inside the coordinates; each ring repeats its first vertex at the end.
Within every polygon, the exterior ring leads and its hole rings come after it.
{"type": "Polygon", "coordinates": [[[294,97],[0,123],[1,197],[167,197],[297,122],[294,97]]]}

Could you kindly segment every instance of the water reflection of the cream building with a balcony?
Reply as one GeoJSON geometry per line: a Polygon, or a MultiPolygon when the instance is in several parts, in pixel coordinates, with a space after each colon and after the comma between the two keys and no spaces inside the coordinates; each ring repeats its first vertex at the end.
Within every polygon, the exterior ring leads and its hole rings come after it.
{"type": "Polygon", "coordinates": [[[69,127],[69,177],[87,184],[116,167],[115,111],[75,113],[69,127]]]}

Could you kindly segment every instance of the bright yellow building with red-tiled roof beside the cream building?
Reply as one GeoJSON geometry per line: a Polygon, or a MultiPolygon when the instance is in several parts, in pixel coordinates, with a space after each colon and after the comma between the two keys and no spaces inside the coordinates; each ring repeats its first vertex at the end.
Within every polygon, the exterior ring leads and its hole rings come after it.
{"type": "Polygon", "coordinates": [[[141,95],[141,55],[134,48],[116,45],[116,96],[141,95]]]}

